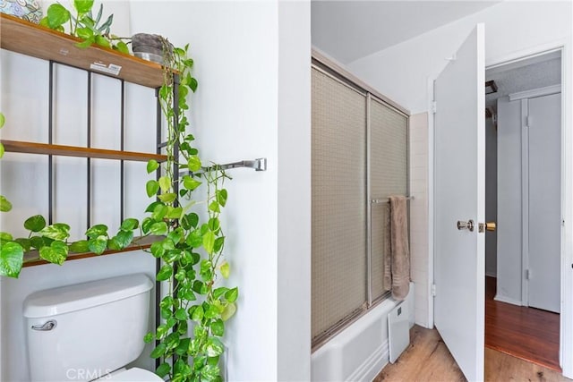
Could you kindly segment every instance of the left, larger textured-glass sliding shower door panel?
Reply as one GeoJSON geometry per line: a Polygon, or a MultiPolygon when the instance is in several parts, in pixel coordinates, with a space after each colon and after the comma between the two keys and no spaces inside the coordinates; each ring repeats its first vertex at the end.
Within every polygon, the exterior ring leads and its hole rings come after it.
{"type": "Polygon", "coordinates": [[[366,307],[365,184],[366,97],[313,68],[313,344],[366,307]]]}

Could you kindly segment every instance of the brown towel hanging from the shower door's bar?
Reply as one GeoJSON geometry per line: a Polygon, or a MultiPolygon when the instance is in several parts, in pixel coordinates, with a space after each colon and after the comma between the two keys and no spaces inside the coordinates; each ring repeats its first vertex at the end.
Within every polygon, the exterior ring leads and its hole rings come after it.
{"type": "Polygon", "coordinates": [[[392,297],[403,301],[410,290],[410,250],[406,197],[390,196],[390,256],[392,297]]]}

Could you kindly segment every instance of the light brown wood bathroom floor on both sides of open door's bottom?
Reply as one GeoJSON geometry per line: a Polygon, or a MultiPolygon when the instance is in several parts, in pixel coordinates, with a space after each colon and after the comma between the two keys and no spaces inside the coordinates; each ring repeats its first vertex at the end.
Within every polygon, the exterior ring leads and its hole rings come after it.
{"type": "MultiPolygon", "coordinates": [[[[456,382],[466,381],[436,329],[415,326],[410,330],[410,346],[398,361],[387,365],[375,382],[456,382]]],[[[560,372],[508,354],[485,349],[485,381],[571,381],[560,372]]]]}

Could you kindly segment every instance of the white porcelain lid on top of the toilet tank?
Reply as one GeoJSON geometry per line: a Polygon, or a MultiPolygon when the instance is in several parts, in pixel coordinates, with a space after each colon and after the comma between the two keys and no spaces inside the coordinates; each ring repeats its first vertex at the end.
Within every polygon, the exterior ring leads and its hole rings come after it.
{"type": "Polygon", "coordinates": [[[47,318],[123,300],[152,287],[150,278],[141,273],[61,286],[31,293],[24,300],[23,314],[26,318],[47,318]]]}

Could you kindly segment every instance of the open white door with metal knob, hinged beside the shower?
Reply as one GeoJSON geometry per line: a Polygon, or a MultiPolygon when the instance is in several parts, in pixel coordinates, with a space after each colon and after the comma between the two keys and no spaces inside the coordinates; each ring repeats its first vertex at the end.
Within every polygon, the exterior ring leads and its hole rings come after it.
{"type": "Polygon", "coordinates": [[[483,51],[478,24],[434,85],[434,321],[470,381],[483,380],[483,51]],[[458,229],[458,221],[469,220],[473,231],[458,229]]]}

